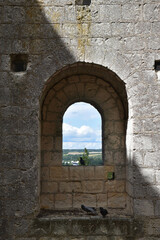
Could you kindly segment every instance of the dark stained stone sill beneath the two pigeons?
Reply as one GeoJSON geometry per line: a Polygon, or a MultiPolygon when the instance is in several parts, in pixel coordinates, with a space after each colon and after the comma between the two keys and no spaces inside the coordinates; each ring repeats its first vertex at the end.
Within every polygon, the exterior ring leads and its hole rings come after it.
{"type": "MultiPolygon", "coordinates": [[[[31,237],[72,239],[93,237],[132,237],[142,232],[142,226],[130,216],[39,216],[32,225],[31,237]]],[[[108,239],[108,238],[107,238],[108,239]]],[[[116,238],[117,239],[117,238],[116,238]]]]}

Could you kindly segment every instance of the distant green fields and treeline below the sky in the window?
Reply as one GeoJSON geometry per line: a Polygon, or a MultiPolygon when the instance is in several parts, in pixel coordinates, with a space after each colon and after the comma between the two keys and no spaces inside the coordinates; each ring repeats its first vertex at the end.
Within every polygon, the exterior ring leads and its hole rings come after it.
{"type": "MultiPolygon", "coordinates": [[[[87,149],[88,163],[86,165],[102,165],[102,149],[87,149]]],[[[62,165],[78,166],[80,157],[83,158],[84,149],[63,149],[62,165]]]]}

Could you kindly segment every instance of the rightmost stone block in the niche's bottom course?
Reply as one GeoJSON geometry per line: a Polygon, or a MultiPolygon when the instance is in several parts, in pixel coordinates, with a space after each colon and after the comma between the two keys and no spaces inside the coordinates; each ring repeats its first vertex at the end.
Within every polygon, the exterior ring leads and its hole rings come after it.
{"type": "Polygon", "coordinates": [[[125,208],[126,194],[125,193],[108,193],[109,208],[125,208]]]}

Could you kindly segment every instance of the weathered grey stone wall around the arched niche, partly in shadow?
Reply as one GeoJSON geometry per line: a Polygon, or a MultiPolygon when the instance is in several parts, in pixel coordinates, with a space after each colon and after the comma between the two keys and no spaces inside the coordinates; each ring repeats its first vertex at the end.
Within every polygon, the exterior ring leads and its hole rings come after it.
{"type": "MultiPolygon", "coordinates": [[[[105,80],[123,103],[125,120],[128,116],[125,192],[130,213],[143,222],[144,230],[136,239],[159,239],[160,84],[154,64],[160,59],[160,3],[82,2],[0,0],[2,240],[32,239],[27,234],[40,211],[41,164],[44,167],[43,102],[55,83],[82,72],[105,80]],[[92,71],[85,68],[87,62],[92,71]]],[[[60,186],[55,182],[54,190],[56,184],[60,186]]]]}

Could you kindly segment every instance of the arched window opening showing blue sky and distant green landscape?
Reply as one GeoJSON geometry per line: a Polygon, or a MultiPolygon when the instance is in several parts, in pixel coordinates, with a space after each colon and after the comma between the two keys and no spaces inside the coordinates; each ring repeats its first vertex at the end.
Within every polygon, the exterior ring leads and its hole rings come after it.
{"type": "Polygon", "coordinates": [[[63,116],[62,165],[102,165],[101,115],[89,103],[77,102],[63,116]]]}

